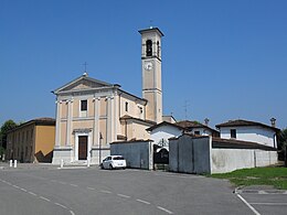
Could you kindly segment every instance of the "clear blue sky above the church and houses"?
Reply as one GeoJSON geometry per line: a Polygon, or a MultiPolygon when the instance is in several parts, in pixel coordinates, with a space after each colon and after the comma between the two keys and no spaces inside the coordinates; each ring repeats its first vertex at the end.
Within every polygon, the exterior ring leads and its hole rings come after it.
{"type": "Polygon", "coordinates": [[[138,30],[150,20],[164,33],[164,115],[287,127],[286,0],[0,0],[0,123],[55,117],[51,90],[84,62],[141,96],[138,30]]]}

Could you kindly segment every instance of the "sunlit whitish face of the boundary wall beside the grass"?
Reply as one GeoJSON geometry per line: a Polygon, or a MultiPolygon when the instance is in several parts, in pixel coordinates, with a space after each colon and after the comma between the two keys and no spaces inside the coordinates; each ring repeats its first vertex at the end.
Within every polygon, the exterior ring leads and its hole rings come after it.
{"type": "Polygon", "coordinates": [[[232,172],[237,169],[257,168],[277,163],[276,151],[253,149],[212,149],[211,173],[232,172]]]}

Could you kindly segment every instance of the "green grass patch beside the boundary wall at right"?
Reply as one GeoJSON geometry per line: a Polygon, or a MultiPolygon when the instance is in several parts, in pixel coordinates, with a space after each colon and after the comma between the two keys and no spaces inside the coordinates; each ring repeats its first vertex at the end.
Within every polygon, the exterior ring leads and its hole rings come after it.
{"type": "Polygon", "coordinates": [[[287,168],[253,168],[236,170],[230,173],[212,174],[212,178],[227,179],[240,185],[273,185],[287,190],[287,168]]]}

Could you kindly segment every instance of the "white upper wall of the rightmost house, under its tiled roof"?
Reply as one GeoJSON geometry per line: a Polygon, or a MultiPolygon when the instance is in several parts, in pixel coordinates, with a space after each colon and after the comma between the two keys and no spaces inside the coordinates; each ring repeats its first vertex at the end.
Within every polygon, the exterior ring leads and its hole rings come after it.
{"type": "MultiPolygon", "coordinates": [[[[274,147],[275,132],[273,130],[261,127],[224,127],[221,128],[221,138],[230,139],[231,129],[236,129],[236,140],[257,142],[268,147],[274,147]]],[[[277,142],[275,143],[275,148],[277,148],[277,142]]]]}

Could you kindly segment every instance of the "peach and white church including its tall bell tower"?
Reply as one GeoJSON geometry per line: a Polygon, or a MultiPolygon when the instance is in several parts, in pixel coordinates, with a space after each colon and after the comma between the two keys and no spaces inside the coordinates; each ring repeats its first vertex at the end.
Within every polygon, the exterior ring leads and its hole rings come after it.
{"type": "Polygon", "coordinates": [[[88,76],[53,90],[56,96],[56,133],[53,163],[99,163],[109,143],[147,140],[147,128],[162,121],[161,37],[158,28],[141,34],[142,98],[88,76]]]}

